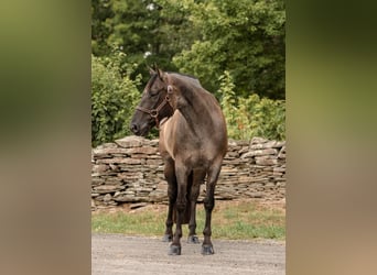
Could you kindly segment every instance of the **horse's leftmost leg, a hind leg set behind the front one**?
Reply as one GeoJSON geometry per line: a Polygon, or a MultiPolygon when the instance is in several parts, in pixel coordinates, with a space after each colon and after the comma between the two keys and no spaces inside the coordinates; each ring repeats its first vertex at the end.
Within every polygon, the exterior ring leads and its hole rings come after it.
{"type": "Polygon", "coordinates": [[[164,176],[168,182],[168,198],[169,198],[169,209],[166,218],[166,229],[162,241],[171,242],[173,240],[173,211],[176,200],[176,178],[175,178],[175,167],[174,161],[172,158],[165,160],[164,176]]]}

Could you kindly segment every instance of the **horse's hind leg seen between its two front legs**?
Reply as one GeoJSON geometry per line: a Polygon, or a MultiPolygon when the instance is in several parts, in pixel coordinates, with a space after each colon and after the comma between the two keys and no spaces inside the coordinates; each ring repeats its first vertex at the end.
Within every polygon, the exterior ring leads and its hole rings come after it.
{"type": "Polygon", "coordinates": [[[201,184],[203,183],[205,177],[205,169],[194,169],[192,177],[192,186],[190,191],[190,207],[191,207],[191,216],[188,222],[188,243],[200,243],[196,235],[196,201],[201,190],[201,184]]]}

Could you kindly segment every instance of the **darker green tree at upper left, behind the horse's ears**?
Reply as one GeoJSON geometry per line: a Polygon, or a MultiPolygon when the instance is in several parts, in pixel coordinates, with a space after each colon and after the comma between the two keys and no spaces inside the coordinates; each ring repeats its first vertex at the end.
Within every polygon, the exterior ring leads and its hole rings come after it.
{"type": "Polygon", "coordinates": [[[158,64],[176,72],[173,56],[188,48],[193,36],[187,14],[166,0],[94,0],[91,48],[95,56],[107,56],[111,48],[127,53],[134,64],[131,78],[149,79],[148,66],[158,64]]]}

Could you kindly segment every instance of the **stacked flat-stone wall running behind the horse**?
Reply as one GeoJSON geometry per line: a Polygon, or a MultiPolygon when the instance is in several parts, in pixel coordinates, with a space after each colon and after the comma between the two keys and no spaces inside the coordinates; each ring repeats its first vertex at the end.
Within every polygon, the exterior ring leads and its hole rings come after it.
{"type": "MultiPolygon", "coordinates": [[[[168,184],[158,140],[126,136],[91,152],[91,207],[125,202],[168,204],[168,184]]],[[[198,201],[203,201],[205,185],[198,201]]],[[[286,196],[286,142],[254,138],[229,140],[217,182],[216,199],[256,198],[279,201],[286,196]]]]}

